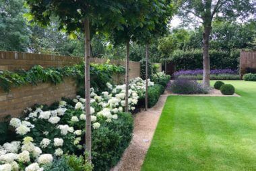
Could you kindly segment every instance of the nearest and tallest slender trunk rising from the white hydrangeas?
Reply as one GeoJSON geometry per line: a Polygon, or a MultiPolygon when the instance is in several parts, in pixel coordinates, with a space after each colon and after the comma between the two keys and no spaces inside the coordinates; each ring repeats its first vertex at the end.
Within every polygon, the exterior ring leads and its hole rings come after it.
{"type": "Polygon", "coordinates": [[[86,85],[86,151],[89,153],[89,162],[92,161],[92,132],[90,115],[90,26],[89,19],[84,21],[84,32],[86,35],[86,54],[85,54],[85,85],[86,85]]]}

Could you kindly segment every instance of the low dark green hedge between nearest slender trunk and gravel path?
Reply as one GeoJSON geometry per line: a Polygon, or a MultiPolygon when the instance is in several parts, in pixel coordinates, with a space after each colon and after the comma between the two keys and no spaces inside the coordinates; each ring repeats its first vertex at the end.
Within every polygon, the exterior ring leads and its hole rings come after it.
{"type": "Polygon", "coordinates": [[[129,146],[133,133],[131,113],[119,113],[119,119],[100,123],[92,131],[92,163],[94,170],[110,170],[119,162],[129,146]]]}

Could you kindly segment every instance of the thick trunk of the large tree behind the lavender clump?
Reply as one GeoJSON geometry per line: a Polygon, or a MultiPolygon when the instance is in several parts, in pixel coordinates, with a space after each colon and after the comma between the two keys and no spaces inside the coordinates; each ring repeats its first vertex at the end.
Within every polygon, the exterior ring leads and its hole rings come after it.
{"type": "Polygon", "coordinates": [[[211,25],[204,25],[203,32],[203,87],[210,87],[210,56],[209,56],[209,42],[211,25]]]}

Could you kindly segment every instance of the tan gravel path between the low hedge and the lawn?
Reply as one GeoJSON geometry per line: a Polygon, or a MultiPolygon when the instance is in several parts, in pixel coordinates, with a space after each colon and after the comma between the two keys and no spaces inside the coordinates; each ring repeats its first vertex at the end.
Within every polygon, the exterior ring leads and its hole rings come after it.
{"type": "Polygon", "coordinates": [[[148,111],[137,113],[134,119],[133,139],[131,140],[131,144],[125,150],[121,161],[115,168],[111,169],[111,171],[140,170],[148,148],[150,148],[156,125],[158,124],[168,95],[168,93],[161,95],[158,103],[151,109],[148,109],[148,111]]]}

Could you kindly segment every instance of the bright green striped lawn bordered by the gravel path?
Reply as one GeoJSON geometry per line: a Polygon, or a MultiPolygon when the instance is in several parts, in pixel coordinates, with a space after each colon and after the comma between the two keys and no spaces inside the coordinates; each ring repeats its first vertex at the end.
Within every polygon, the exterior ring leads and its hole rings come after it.
{"type": "Polygon", "coordinates": [[[141,170],[256,170],[256,82],[224,82],[241,97],[168,97],[141,170]]]}

